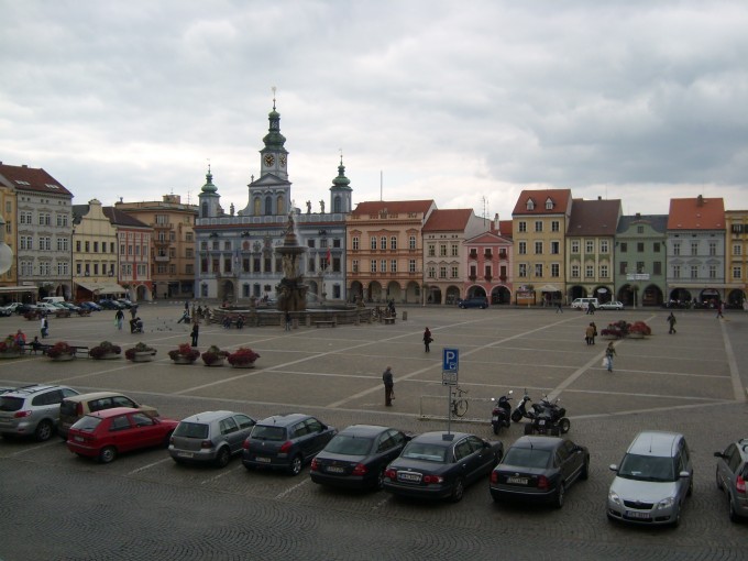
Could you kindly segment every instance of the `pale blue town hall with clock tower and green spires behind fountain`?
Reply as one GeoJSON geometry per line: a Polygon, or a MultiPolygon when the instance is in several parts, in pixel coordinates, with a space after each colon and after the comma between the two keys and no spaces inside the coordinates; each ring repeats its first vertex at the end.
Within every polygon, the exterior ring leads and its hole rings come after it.
{"type": "Polygon", "coordinates": [[[270,129],[260,151],[261,174],[250,182],[243,209],[235,211],[231,205],[229,212],[224,211],[208,170],[198,197],[195,224],[196,297],[218,298],[227,304],[275,297],[275,288],[284,276],[275,248],[283,243],[289,213],[293,213],[297,240],[307,249],[300,266],[309,287],[310,305],[315,300],[343,301],[346,299],[345,217],[351,211],[352,189],[344,175],[342,157],[330,187],[328,209],[322,199],[318,212],[312,212],[311,201],[307,201],[306,212],[301,212],[292,207],[289,153],[280,134],[280,114],[275,100],[268,121],[270,129]]]}

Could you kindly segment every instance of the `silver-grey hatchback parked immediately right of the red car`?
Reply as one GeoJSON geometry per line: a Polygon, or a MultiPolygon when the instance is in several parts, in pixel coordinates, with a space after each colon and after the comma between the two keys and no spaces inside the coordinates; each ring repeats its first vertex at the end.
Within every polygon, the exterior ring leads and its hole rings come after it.
{"type": "Polygon", "coordinates": [[[255,420],[241,413],[205,411],[182,420],[169,441],[168,453],[177,463],[212,462],[226,468],[242,452],[255,420]]]}

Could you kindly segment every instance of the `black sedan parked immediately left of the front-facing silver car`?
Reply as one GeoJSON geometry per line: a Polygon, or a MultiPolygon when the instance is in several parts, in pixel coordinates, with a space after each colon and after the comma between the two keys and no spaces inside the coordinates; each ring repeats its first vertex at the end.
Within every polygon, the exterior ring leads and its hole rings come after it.
{"type": "Polygon", "coordinates": [[[494,501],[520,499],[563,506],[566,490],[590,473],[590,451],[556,437],[521,437],[491,474],[494,501]]]}

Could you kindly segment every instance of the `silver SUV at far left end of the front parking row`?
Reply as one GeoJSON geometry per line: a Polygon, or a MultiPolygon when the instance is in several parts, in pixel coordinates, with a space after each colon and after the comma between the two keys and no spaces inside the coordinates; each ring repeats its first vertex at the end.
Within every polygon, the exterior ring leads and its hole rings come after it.
{"type": "Polygon", "coordinates": [[[66,386],[35,384],[0,395],[0,435],[48,440],[59,422],[59,404],[78,392],[66,386]]]}

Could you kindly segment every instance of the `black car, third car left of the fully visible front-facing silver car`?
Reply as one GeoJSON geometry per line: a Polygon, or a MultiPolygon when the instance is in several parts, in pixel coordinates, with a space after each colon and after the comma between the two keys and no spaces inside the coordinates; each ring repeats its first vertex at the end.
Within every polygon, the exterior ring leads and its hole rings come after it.
{"type": "Polygon", "coordinates": [[[352,425],[317,454],[309,475],[321,485],[381,490],[387,464],[409,440],[405,432],[389,427],[352,425]]]}

